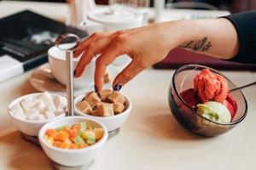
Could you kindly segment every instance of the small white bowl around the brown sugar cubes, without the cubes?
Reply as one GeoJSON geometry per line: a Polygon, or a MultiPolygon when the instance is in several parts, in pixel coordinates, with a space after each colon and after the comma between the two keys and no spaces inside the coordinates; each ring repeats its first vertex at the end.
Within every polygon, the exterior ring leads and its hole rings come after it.
{"type": "MultiPolygon", "coordinates": [[[[76,97],[74,99],[74,104],[78,104],[79,102],[81,102],[84,99],[85,94],[79,95],[78,97],[76,97]]],[[[90,116],[87,114],[84,114],[83,112],[79,111],[76,106],[75,106],[75,114],[78,116],[85,116],[88,118],[92,118],[95,119],[99,122],[102,122],[108,129],[108,132],[111,132],[119,127],[122,126],[122,124],[125,122],[125,120],[128,118],[128,116],[131,113],[131,100],[126,98],[126,102],[125,102],[125,111],[123,111],[122,113],[119,113],[118,115],[115,116],[90,116]]]]}

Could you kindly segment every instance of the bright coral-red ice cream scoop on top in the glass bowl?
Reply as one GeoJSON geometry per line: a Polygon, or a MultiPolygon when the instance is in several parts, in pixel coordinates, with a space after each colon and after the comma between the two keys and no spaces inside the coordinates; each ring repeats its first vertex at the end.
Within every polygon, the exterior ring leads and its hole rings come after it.
{"type": "Polygon", "coordinates": [[[202,103],[217,101],[223,103],[228,94],[226,79],[218,74],[213,74],[209,69],[203,69],[194,79],[194,89],[202,103]]]}

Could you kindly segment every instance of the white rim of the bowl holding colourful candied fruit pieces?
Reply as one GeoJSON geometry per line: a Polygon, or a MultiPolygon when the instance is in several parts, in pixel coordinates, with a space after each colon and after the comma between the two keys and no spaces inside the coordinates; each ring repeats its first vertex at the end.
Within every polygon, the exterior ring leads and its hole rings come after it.
{"type": "Polygon", "coordinates": [[[99,122],[99,121],[97,121],[95,119],[92,119],[92,118],[88,118],[88,117],[85,117],[85,116],[64,116],[64,117],[61,117],[61,118],[59,118],[59,119],[57,119],[53,122],[48,122],[48,123],[44,124],[44,126],[41,127],[40,130],[39,130],[38,139],[39,139],[39,142],[42,146],[44,145],[47,148],[49,148],[50,150],[61,151],[61,152],[65,152],[65,153],[78,153],[78,152],[84,152],[85,150],[86,151],[94,150],[94,149],[96,149],[96,147],[99,147],[100,145],[105,144],[107,142],[107,139],[108,139],[108,129],[105,125],[102,124],[102,122],[99,122]],[[58,147],[55,147],[55,146],[52,146],[52,145],[48,144],[46,142],[46,140],[44,139],[44,133],[46,131],[46,128],[50,124],[54,124],[55,122],[61,122],[62,120],[65,120],[65,119],[81,119],[81,121],[85,121],[85,122],[88,121],[88,120],[91,121],[91,122],[96,122],[97,124],[99,124],[104,129],[102,139],[97,141],[95,144],[89,145],[88,147],[81,148],[81,149],[75,149],[75,150],[62,149],[62,148],[58,148],[58,147]]]}

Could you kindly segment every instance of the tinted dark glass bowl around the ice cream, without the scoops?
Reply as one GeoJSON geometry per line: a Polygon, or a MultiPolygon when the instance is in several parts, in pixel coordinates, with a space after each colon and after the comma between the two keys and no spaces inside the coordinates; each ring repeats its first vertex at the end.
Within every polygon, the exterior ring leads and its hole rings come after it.
{"type": "Polygon", "coordinates": [[[201,136],[217,136],[226,133],[241,122],[247,116],[247,100],[241,91],[231,93],[231,97],[236,100],[237,111],[231,122],[213,122],[191,108],[181,97],[181,93],[189,88],[193,88],[193,80],[201,70],[208,68],[212,73],[219,74],[226,78],[229,89],[237,88],[236,85],[225,77],[222,73],[203,65],[184,65],[175,71],[168,91],[169,106],[172,115],[183,127],[190,132],[201,136]]]}

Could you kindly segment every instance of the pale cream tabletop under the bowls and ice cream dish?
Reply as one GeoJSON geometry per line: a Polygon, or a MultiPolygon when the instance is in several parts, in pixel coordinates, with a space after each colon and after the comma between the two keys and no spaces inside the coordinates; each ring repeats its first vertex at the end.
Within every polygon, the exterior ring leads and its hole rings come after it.
{"type": "MultiPolygon", "coordinates": [[[[53,4],[1,2],[0,15],[3,16],[3,6],[8,14],[32,7],[48,16],[55,8],[54,13],[60,14],[55,19],[60,20],[59,17],[65,16],[62,8],[66,7],[53,4]]],[[[185,131],[168,108],[167,88],[173,72],[148,69],[122,89],[132,101],[131,116],[119,134],[108,140],[91,170],[256,169],[255,88],[244,91],[249,109],[240,125],[216,138],[201,138],[185,131]]],[[[31,73],[0,83],[0,169],[52,169],[41,149],[21,139],[7,113],[11,100],[36,92],[28,82],[31,73]]],[[[224,71],[224,74],[237,85],[256,80],[256,72],[251,71],[224,71]]]]}

